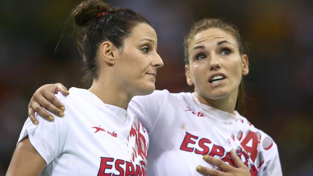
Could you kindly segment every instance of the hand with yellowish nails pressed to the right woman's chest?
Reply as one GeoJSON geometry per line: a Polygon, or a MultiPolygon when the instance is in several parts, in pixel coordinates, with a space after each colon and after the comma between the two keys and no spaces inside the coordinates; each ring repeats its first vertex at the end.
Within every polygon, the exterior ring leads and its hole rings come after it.
{"type": "Polygon", "coordinates": [[[241,161],[239,156],[236,155],[235,151],[231,151],[231,159],[234,161],[234,163],[238,167],[231,166],[224,161],[214,158],[209,155],[204,155],[203,159],[212,164],[216,165],[220,170],[208,168],[202,165],[197,166],[197,171],[203,175],[210,175],[210,176],[231,176],[231,175],[237,175],[237,176],[251,176],[248,167],[241,161]]]}

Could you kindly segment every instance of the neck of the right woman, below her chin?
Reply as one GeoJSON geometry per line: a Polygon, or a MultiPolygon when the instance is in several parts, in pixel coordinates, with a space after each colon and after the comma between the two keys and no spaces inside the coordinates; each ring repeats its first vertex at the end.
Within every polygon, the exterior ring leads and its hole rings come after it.
{"type": "Polygon", "coordinates": [[[197,91],[194,93],[201,103],[214,107],[215,109],[234,114],[238,91],[233,92],[230,96],[219,99],[206,98],[197,91]]]}

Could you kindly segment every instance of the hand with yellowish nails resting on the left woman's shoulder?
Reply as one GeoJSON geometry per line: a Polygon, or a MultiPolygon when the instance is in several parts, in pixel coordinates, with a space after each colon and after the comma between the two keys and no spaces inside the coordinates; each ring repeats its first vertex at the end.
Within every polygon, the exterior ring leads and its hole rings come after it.
{"type": "Polygon", "coordinates": [[[61,92],[65,96],[69,94],[67,88],[61,83],[46,84],[36,90],[28,104],[28,116],[33,124],[38,124],[35,112],[50,122],[53,121],[54,118],[47,110],[62,118],[65,107],[54,95],[58,92],[61,92]],[[47,110],[43,109],[43,107],[47,110]]]}

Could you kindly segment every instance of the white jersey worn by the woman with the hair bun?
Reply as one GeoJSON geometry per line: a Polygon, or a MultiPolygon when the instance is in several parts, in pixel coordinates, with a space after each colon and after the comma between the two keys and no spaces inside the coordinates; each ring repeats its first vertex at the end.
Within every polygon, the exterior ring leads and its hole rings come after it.
{"type": "Polygon", "coordinates": [[[139,121],[88,90],[69,92],[57,94],[64,118],[50,123],[36,114],[39,125],[27,119],[19,138],[28,135],[47,162],[42,175],[146,175],[149,138],[139,121]]]}

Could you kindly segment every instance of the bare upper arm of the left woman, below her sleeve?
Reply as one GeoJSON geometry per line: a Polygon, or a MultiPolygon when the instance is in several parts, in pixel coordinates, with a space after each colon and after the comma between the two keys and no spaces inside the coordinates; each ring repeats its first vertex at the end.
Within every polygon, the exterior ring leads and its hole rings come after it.
{"type": "Polygon", "coordinates": [[[27,136],[17,144],[6,176],[40,175],[46,165],[46,161],[31,145],[27,136]]]}

